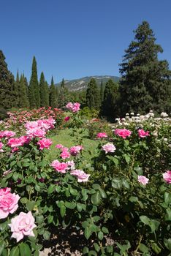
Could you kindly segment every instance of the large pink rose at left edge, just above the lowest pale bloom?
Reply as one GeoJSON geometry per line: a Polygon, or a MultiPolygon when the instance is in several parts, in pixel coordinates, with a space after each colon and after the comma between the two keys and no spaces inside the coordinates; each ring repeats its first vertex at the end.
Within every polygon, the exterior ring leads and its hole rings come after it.
{"type": "Polygon", "coordinates": [[[13,214],[17,210],[19,199],[19,195],[12,194],[9,191],[0,196],[0,219],[7,218],[9,213],[13,214]]]}

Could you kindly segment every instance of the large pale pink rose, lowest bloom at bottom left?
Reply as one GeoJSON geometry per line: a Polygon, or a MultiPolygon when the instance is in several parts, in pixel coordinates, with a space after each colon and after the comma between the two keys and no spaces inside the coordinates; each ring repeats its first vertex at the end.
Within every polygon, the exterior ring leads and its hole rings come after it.
{"type": "Polygon", "coordinates": [[[34,217],[31,211],[27,214],[20,212],[20,214],[11,219],[11,224],[9,224],[12,231],[12,238],[16,238],[17,242],[23,239],[24,236],[34,236],[33,229],[37,227],[34,224],[34,217]]]}

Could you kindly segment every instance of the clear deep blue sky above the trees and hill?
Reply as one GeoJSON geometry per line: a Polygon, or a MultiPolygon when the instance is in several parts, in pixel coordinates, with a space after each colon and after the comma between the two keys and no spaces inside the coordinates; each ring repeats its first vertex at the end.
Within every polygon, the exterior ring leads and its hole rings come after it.
{"type": "Polygon", "coordinates": [[[171,66],[170,10],[170,0],[0,0],[0,49],[28,79],[33,56],[48,83],[119,75],[133,30],[147,20],[171,66]]]}

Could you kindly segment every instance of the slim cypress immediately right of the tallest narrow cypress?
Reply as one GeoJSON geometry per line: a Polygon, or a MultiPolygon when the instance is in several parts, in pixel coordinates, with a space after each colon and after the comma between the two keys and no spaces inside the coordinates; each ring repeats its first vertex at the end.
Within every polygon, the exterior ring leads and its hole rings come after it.
{"type": "Polygon", "coordinates": [[[40,92],[40,106],[41,107],[47,107],[47,97],[49,97],[47,93],[47,86],[45,83],[45,76],[43,72],[40,75],[40,80],[39,80],[39,92],[40,92]]]}

